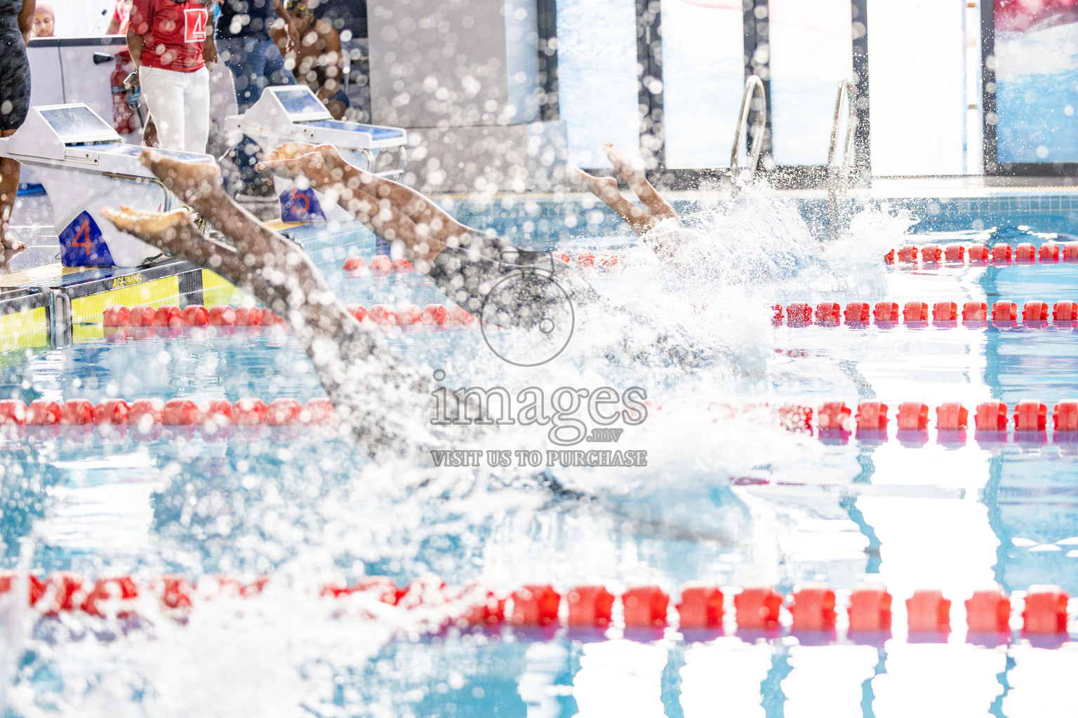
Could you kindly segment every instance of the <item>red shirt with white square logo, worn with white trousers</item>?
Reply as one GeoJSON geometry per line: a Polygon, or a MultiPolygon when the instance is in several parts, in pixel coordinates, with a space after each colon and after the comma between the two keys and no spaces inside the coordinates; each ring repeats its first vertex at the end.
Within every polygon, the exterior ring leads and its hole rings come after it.
{"type": "MultiPolygon", "coordinates": [[[[142,65],[174,72],[194,72],[202,58],[209,13],[201,0],[135,0],[130,30],[146,39],[142,65]]],[[[209,25],[209,32],[213,26],[209,25]]]]}

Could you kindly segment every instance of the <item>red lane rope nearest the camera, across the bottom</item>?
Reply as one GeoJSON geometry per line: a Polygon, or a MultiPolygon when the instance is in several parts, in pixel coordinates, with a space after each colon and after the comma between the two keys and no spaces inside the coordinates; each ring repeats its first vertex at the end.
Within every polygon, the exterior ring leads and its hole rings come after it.
{"type": "MultiPolygon", "coordinates": [[[[150,597],[174,618],[196,610],[199,603],[220,596],[257,600],[270,578],[240,581],[226,576],[204,578],[193,585],[181,576],[157,576],[138,581],[130,576],[84,580],[60,572],[43,578],[0,574],[0,597],[25,586],[29,605],[42,617],[83,614],[106,618],[136,615],[139,601],[150,597]]],[[[771,587],[728,588],[688,583],[671,610],[671,594],[659,586],[637,586],[620,596],[605,586],[576,586],[558,592],[550,585],[528,585],[498,592],[479,583],[447,587],[438,580],[396,586],[386,577],[370,577],[350,586],[326,585],[308,594],[327,601],[351,601],[360,613],[377,617],[377,605],[421,615],[427,623],[458,627],[495,627],[508,623],[533,628],[564,624],[570,628],[606,628],[620,614],[626,629],[680,630],[737,629],[776,631],[833,631],[840,623],[851,635],[892,629],[893,597],[882,585],[862,585],[839,592],[820,583],[797,588],[786,596],[771,587]],[[842,599],[840,601],[839,599],[842,599]],[[730,601],[732,599],[732,601],[730,601]],[[733,610],[728,610],[730,603],[733,610]],[[616,611],[614,605],[621,610],[616,611]],[[363,609],[365,606],[365,610],[363,609]],[[373,609],[373,610],[372,610],[373,609]],[[839,617],[845,615],[845,621],[839,617]]],[[[1067,632],[1069,596],[1059,587],[1034,586],[1022,599],[1022,610],[1013,621],[1025,634],[1060,635],[1067,632]]],[[[1009,634],[1012,627],[1011,596],[1001,589],[975,591],[965,597],[966,628],[970,633],[1009,634]]],[[[941,591],[914,591],[906,601],[907,628],[911,633],[945,634],[951,631],[951,600],[941,591]]]]}

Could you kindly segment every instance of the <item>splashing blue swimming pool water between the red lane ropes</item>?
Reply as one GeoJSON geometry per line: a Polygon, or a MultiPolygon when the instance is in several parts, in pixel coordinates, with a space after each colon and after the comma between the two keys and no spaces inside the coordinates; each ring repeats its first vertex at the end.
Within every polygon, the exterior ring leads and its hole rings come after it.
{"type": "MultiPolygon", "coordinates": [[[[453,211],[573,254],[620,252],[632,242],[583,200],[507,205],[456,203],[453,211]]],[[[689,213],[687,205],[678,209],[689,213]]],[[[6,567],[147,581],[174,573],[204,585],[211,574],[272,576],[261,595],[204,600],[183,622],[148,604],[139,610],[146,620],[134,623],[64,613],[34,622],[9,613],[19,642],[0,649],[0,672],[11,672],[0,676],[13,676],[4,680],[13,714],[106,705],[150,715],[797,716],[821,706],[827,715],[1065,714],[1075,699],[1061,678],[1078,665],[1075,643],[1066,634],[1023,636],[1017,615],[1033,585],[1078,591],[1078,445],[1050,430],[1006,440],[972,426],[939,435],[931,421],[924,434],[893,426],[886,440],[820,440],[761,421],[770,409],[758,405],[955,400],[972,409],[997,398],[1039,400],[1050,411],[1078,397],[1078,335],[1063,325],[770,322],[772,304],[794,300],[1078,299],[1070,288],[1078,267],[1065,263],[886,268],[868,261],[903,241],[901,209],[924,217],[913,227],[918,245],[969,244],[991,227],[1012,244],[1039,245],[1045,237],[1036,233],[1078,234],[1069,196],[892,199],[886,210],[853,212],[853,236],[819,261],[776,267],[751,256],[779,251],[790,233],[807,241],[828,231],[817,221],[825,209],[819,199],[787,205],[770,195],[705,206],[718,229],[700,233],[703,240],[722,235],[737,249],[720,271],[671,277],[628,251],[617,271],[594,272],[605,294],[720,342],[729,361],[706,370],[596,360],[602,337],[581,337],[586,351],[525,370],[494,357],[478,330],[387,330],[409,361],[444,371],[452,386],[645,388],[648,420],[625,430],[624,446],[649,452],[647,470],[551,471],[594,498],[505,485],[483,470],[379,467],[332,432],[179,432],[141,441],[68,432],[10,442],[0,522],[6,567]],[[323,583],[364,575],[401,586],[417,577],[451,586],[480,579],[505,592],[604,583],[616,595],[649,583],[676,595],[687,581],[768,585],[783,594],[826,582],[840,603],[870,579],[895,596],[894,621],[888,635],[852,639],[841,618],[834,634],[804,632],[791,630],[784,611],[780,629],[754,632],[733,622],[728,588],[724,635],[624,630],[618,608],[606,632],[431,632],[379,615],[362,596],[319,595],[323,583]],[[963,601],[993,582],[1013,597],[1015,632],[967,636],[963,601]],[[918,589],[952,600],[949,634],[907,635],[904,601],[918,589]]],[[[322,245],[298,231],[346,302],[444,302],[416,274],[340,269],[347,255],[370,256],[373,238],[322,245]]],[[[2,393],[27,403],[322,395],[294,337],[274,328],[95,339],[8,358],[2,393]]],[[[545,448],[545,431],[506,437],[498,448],[545,448]]]]}

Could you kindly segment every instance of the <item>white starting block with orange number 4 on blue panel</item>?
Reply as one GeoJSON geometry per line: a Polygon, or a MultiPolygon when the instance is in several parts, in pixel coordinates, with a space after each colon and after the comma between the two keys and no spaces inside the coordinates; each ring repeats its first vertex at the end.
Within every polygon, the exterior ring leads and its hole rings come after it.
{"type": "MultiPolygon", "coordinates": [[[[124,144],[85,104],[30,108],[10,138],[0,138],[0,156],[17,159],[41,180],[53,205],[60,262],[65,267],[137,267],[161,250],[116,229],[101,207],[121,203],[167,212],[175,197],[138,156],[143,147],[124,144]]],[[[188,163],[210,163],[209,155],[157,150],[188,163]]]]}

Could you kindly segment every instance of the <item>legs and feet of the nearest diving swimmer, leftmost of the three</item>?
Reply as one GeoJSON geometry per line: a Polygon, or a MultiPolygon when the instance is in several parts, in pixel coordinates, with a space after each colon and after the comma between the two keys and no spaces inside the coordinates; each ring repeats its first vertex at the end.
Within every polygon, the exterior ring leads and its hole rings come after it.
{"type": "Polygon", "coordinates": [[[186,165],[151,152],[142,153],[142,161],[229,237],[236,252],[231,255],[201,237],[183,212],[110,211],[118,226],[161,249],[175,249],[230,281],[246,282],[267,304],[282,300],[287,311],[280,313],[295,328],[341,420],[372,456],[444,448],[443,437],[426,420],[436,384],[347,312],[303,250],[233,202],[216,167],[186,165]]]}

